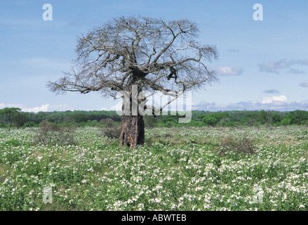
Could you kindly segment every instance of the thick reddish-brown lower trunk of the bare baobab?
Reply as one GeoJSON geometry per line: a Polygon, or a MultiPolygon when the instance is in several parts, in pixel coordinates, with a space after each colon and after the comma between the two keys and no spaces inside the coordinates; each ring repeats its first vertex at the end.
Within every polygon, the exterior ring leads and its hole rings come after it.
{"type": "Polygon", "coordinates": [[[119,146],[135,148],[145,143],[145,122],[142,115],[122,115],[119,146]]]}

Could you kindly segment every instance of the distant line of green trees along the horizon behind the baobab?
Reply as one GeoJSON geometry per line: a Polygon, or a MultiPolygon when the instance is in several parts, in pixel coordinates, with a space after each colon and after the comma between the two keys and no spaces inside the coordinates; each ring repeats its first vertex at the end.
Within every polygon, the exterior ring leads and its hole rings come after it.
{"type": "MultiPolygon", "coordinates": [[[[145,115],[146,127],[255,127],[255,126],[308,126],[308,112],[295,110],[288,112],[260,111],[225,111],[209,112],[194,110],[192,120],[187,124],[178,123],[180,115],[145,115]]],[[[0,127],[25,128],[39,127],[44,121],[55,124],[71,124],[77,127],[100,127],[110,122],[121,123],[121,116],[116,111],[54,111],[26,113],[20,108],[4,108],[0,110],[0,127]]]]}

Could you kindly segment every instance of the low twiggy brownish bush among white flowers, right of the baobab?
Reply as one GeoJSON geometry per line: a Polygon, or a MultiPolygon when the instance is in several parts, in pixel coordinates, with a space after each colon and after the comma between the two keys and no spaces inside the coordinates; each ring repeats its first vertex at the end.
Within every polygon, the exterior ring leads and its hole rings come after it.
{"type": "Polygon", "coordinates": [[[222,139],[219,147],[220,156],[225,156],[227,152],[253,154],[255,153],[255,144],[253,140],[243,137],[241,139],[234,139],[233,137],[227,137],[222,139]]]}

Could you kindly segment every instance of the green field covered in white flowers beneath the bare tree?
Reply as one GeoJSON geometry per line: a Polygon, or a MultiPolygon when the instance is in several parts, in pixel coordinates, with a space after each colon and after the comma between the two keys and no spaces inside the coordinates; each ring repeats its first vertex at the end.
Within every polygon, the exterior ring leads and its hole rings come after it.
{"type": "Polygon", "coordinates": [[[308,209],[307,127],[149,129],[134,150],[94,127],[36,134],[0,129],[0,210],[308,209]]]}

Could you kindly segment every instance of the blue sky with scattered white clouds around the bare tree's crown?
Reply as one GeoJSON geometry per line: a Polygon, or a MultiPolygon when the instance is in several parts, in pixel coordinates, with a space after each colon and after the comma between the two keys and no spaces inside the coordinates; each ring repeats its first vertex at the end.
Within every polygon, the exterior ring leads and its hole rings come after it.
{"type": "Polygon", "coordinates": [[[99,93],[58,95],[46,88],[75,58],[76,37],[123,15],[199,25],[199,41],[215,44],[208,64],[219,83],[195,91],[194,110],[308,110],[308,6],[297,1],[0,1],[0,108],[24,111],[114,109],[99,93]],[[53,6],[45,21],[43,4],[53,6]],[[263,20],[253,20],[262,4],[263,20]]]}

